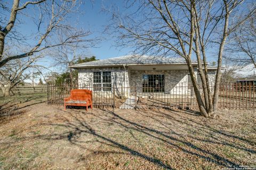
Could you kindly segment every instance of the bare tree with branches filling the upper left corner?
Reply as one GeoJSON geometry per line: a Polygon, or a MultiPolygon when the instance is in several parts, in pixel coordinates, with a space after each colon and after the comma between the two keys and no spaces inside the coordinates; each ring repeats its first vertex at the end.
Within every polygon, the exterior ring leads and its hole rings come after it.
{"type": "Polygon", "coordinates": [[[91,46],[93,40],[86,39],[90,31],[76,29],[74,23],[70,22],[71,14],[79,11],[80,3],[76,0],[38,0],[21,4],[19,0],[13,0],[11,8],[1,3],[0,8],[5,12],[0,13],[0,67],[11,60],[28,57],[48,48],[91,46]],[[19,27],[26,27],[25,19],[36,25],[31,35],[18,31],[19,27]],[[6,44],[13,46],[13,51],[17,53],[5,56],[6,44]],[[20,46],[26,46],[27,50],[21,52],[20,46]]]}

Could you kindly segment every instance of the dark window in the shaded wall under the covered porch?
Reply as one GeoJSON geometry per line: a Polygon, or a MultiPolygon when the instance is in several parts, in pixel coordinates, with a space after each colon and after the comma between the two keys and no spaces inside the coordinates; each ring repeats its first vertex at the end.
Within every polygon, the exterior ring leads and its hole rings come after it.
{"type": "Polygon", "coordinates": [[[142,75],[142,92],[164,92],[164,74],[142,75]]]}

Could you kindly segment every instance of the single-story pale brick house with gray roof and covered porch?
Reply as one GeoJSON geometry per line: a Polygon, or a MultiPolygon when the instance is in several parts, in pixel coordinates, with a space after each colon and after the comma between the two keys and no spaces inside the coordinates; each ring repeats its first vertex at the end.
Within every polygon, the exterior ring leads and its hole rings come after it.
{"type": "MultiPolygon", "coordinates": [[[[91,87],[93,91],[135,87],[139,93],[181,94],[191,89],[188,66],[181,57],[127,55],[70,67],[78,70],[79,88],[91,87]],[[177,86],[181,87],[178,91],[177,86]]],[[[193,67],[200,83],[196,61],[193,62],[193,67]]],[[[210,82],[214,82],[216,70],[216,67],[209,67],[210,82]]]]}

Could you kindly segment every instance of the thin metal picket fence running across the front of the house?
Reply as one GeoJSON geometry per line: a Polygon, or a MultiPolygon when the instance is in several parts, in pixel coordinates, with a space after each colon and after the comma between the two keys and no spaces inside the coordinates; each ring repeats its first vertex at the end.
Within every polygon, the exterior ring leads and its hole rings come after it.
{"type": "MultiPolygon", "coordinates": [[[[113,83],[115,84],[115,83],[113,83]]],[[[47,101],[50,105],[63,105],[63,98],[69,96],[71,89],[89,89],[93,91],[94,107],[114,108],[186,108],[197,110],[197,102],[192,84],[173,84],[170,89],[147,90],[147,87],[71,87],[68,84],[55,86],[48,84],[47,101]],[[150,91],[150,92],[148,92],[150,91]]],[[[198,84],[203,97],[202,84],[198,84]]],[[[213,92],[214,87],[211,87],[213,92]]],[[[256,108],[255,84],[221,83],[219,108],[251,109],[256,108]]]]}

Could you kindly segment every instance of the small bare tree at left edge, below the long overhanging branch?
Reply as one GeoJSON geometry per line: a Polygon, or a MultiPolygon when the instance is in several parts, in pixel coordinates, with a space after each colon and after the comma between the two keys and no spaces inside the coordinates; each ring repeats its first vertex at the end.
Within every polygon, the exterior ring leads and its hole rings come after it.
{"type": "Polygon", "coordinates": [[[0,68],[0,86],[4,97],[9,96],[11,89],[18,83],[29,79],[32,74],[40,73],[43,66],[38,65],[37,61],[42,56],[30,56],[28,58],[19,58],[8,62],[0,68]]]}

